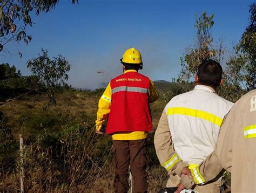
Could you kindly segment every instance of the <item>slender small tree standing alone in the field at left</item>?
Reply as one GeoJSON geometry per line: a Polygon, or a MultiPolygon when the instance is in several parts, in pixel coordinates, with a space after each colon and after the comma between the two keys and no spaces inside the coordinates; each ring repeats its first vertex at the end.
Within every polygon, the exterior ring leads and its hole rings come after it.
{"type": "Polygon", "coordinates": [[[42,49],[42,55],[39,54],[38,58],[29,60],[27,65],[32,74],[38,78],[38,84],[46,88],[48,104],[44,108],[49,107],[52,103],[55,104],[55,88],[64,85],[64,80],[69,78],[66,74],[70,70],[69,61],[61,55],[51,60],[48,51],[42,49]]]}

